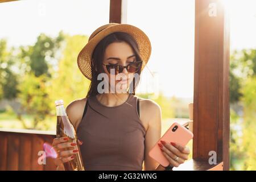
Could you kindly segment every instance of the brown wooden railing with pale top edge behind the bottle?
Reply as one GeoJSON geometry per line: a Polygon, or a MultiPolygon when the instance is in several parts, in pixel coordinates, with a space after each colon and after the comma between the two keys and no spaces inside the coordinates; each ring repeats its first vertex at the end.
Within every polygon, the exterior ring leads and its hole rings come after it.
{"type": "Polygon", "coordinates": [[[46,158],[46,164],[38,163],[43,144],[51,144],[55,136],[54,131],[0,129],[0,170],[56,170],[52,158],[46,158]]]}

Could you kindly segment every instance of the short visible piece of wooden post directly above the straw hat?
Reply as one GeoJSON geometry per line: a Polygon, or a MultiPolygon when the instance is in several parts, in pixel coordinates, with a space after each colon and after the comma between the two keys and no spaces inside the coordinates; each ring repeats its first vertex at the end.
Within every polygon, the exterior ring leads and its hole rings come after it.
{"type": "Polygon", "coordinates": [[[110,0],[109,23],[126,23],[127,0],[110,0]]]}

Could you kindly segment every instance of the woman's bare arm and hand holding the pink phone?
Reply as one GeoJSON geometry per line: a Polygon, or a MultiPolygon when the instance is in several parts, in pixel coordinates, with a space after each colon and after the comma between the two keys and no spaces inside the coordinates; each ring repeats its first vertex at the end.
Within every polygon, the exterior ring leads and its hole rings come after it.
{"type": "MultiPolygon", "coordinates": [[[[144,100],[141,108],[142,121],[148,121],[148,127],[145,135],[145,158],[143,169],[150,171],[163,171],[165,168],[159,165],[159,163],[148,155],[148,152],[161,137],[162,116],[160,106],[153,101],[144,100]]],[[[190,150],[187,146],[183,147],[176,143],[167,143],[167,141],[160,142],[162,143],[160,146],[162,146],[161,150],[163,155],[170,162],[171,166],[178,167],[180,164],[183,164],[185,160],[188,160],[190,150]]]]}

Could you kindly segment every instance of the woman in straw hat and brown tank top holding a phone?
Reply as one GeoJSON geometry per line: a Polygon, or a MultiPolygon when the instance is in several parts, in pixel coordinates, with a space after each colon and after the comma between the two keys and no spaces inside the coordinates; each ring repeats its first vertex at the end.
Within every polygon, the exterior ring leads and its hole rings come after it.
{"type": "MultiPolygon", "coordinates": [[[[154,101],[135,96],[150,54],[150,40],[143,31],[117,23],[94,31],[79,53],[77,64],[91,84],[87,96],[71,102],[66,111],[77,131],[86,170],[167,169],[148,156],[161,137],[161,109],[154,101]]],[[[188,147],[161,143],[170,167],[188,159],[188,147]]],[[[61,170],[77,151],[65,138],[54,139],[52,145],[58,150],[55,163],[61,170]]]]}

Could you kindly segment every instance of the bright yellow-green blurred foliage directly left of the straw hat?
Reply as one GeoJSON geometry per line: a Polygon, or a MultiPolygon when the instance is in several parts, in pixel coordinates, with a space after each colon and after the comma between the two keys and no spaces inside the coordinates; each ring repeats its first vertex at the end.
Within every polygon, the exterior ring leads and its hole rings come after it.
{"type": "Polygon", "coordinates": [[[86,36],[65,36],[63,58],[59,61],[59,69],[48,83],[52,114],[55,114],[55,100],[63,99],[64,105],[67,106],[73,100],[84,98],[87,94],[90,81],[77,67],[77,55],[87,42],[86,36]]]}

